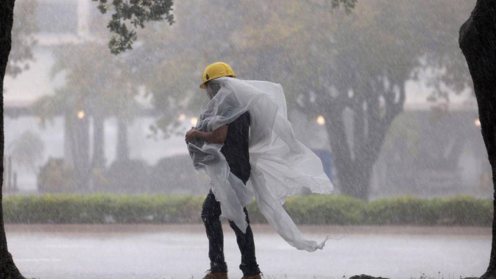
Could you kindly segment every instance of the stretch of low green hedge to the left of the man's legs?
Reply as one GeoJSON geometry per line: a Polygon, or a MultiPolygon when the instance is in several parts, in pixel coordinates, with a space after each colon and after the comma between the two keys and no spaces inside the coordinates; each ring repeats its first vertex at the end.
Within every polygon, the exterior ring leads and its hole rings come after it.
{"type": "Polygon", "coordinates": [[[200,220],[203,198],[167,195],[43,195],[3,199],[7,223],[182,223],[200,220]]]}

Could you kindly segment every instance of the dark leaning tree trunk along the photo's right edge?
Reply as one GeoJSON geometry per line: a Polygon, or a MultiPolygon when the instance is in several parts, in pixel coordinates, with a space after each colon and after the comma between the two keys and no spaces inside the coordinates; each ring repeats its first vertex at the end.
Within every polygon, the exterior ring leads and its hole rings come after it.
{"type": "MultiPolygon", "coordinates": [[[[460,48],[467,59],[479,107],[479,118],[496,198],[496,0],[477,0],[460,28],[460,48]]],[[[496,213],[496,202],[493,201],[496,213]]],[[[493,217],[491,259],[481,279],[496,279],[496,223],[493,217]]]]}

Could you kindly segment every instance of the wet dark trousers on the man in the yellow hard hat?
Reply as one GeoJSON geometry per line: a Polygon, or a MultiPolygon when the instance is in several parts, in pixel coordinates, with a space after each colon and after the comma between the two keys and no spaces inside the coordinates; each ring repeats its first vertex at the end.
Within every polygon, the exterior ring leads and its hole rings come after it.
{"type": "MultiPolygon", "coordinates": [[[[255,243],[253,242],[253,232],[249,226],[247,209],[243,209],[248,223],[246,233],[236,226],[232,221],[229,225],[236,234],[236,241],[241,251],[240,269],[243,271],[243,276],[256,275],[260,273],[260,269],[255,258],[255,243]]],[[[220,203],[215,200],[212,190],[208,193],[201,210],[201,219],[205,224],[208,237],[208,257],[210,258],[210,270],[212,272],[227,272],[227,265],[224,260],[224,234],[222,232],[222,224],[219,220],[221,215],[220,203]]]]}

